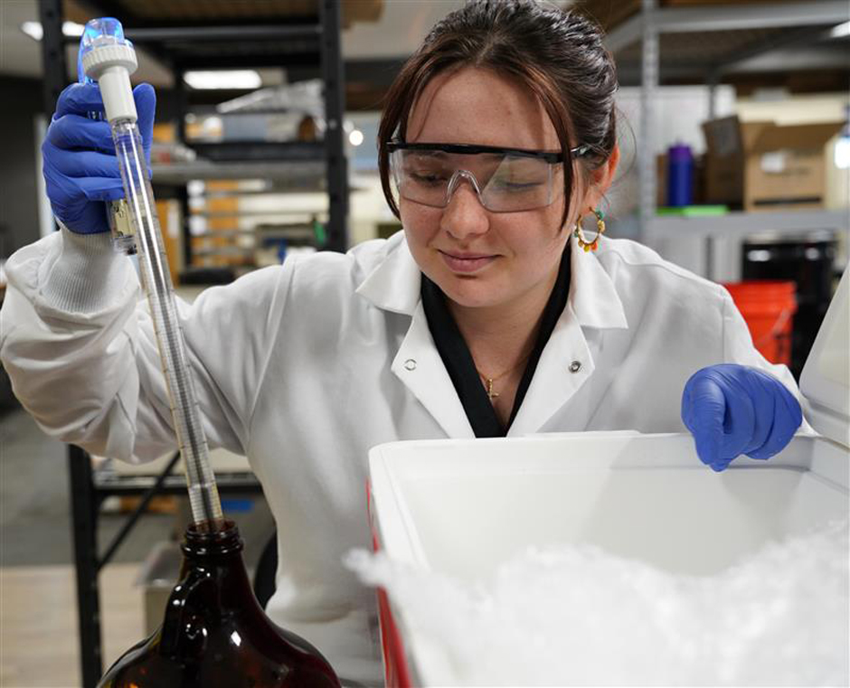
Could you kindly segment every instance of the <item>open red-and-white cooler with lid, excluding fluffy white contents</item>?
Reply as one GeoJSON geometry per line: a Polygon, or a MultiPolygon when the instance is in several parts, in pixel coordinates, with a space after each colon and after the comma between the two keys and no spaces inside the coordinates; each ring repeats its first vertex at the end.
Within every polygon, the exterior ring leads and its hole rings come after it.
{"type": "MultiPolygon", "coordinates": [[[[850,278],[801,378],[807,419],[769,461],[713,473],[688,434],[573,433],[395,442],[370,452],[375,545],[394,561],[480,580],[530,545],[589,543],[676,574],[718,573],[771,541],[845,519],[850,487],[850,278]]],[[[390,685],[446,667],[379,590],[390,685]]],[[[437,677],[440,677],[439,679],[437,677]]]]}

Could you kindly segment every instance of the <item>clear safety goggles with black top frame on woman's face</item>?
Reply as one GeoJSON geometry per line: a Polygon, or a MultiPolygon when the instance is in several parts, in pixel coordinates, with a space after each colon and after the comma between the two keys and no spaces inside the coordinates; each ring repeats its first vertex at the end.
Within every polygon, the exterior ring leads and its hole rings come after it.
{"type": "MultiPolygon", "coordinates": [[[[390,170],[399,195],[413,203],[445,208],[467,180],[478,201],[491,212],[543,208],[554,201],[560,184],[560,152],[469,146],[467,144],[387,144],[390,170]]],[[[588,146],[572,148],[581,157],[588,146]]],[[[562,183],[561,183],[562,184],[562,183]]]]}

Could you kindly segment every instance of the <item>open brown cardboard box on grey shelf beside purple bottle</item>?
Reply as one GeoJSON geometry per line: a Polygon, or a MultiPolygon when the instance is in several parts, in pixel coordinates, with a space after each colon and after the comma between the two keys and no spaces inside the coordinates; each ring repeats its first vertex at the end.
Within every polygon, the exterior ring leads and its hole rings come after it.
{"type": "Polygon", "coordinates": [[[843,126],[779,126],[737,117],[704,122],[706,202],[746,211],[824,207],[824,146],[843,126]]]}

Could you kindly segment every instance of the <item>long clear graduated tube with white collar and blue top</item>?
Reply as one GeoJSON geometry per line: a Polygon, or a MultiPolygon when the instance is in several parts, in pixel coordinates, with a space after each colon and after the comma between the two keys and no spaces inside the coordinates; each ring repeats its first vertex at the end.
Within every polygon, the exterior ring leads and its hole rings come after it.
{"type": "Polygon", "coordinates": [[[177,446],[185,462],[192,516],[203,529],[219,530],[222,505],[210,468],[183,331],[177,322],[174,285],[136,124],[136,102],[130,87],[130,74],[137,68],[136,52],[117,19],[92,19],[80,41],[80,61],[86,77],[98,82],[112,127],[130,227],[136,236],[139,274],[154,321],[177,446]]]}

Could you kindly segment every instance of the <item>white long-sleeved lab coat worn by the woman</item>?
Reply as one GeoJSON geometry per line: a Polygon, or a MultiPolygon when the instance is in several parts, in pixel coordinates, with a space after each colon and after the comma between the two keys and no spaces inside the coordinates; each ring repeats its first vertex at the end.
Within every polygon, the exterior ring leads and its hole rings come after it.
{"type": "MultiPolygon", "coordinates": [[[[106,248],[104,248],[106,247],[106,248]]],[[[0,356],[51,435],[127,460],[174,447],[165,383],[128,259],[56,233],[8,261],[0,356]]],[[[341,676],[380,681],[373,593],[341,558],[369,546],[369,448],[472,438],[431,339],[403,233],[213,287],[180,315],[211,445],[244,454],[279,532],[269,615],[341,676]]],[[[628,240],[573,244],[569,301],[508,433],[678,432],[688,377],[772,372],[722,287],[628,240]]]]}

